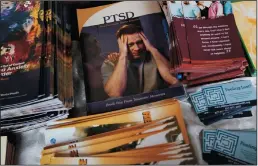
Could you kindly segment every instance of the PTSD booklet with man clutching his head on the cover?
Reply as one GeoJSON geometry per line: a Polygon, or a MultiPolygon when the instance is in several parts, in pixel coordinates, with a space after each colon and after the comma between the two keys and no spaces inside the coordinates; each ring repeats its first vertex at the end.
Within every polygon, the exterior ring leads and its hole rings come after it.
{"type": "Polygon", "coordinates": [[[77,9],[89,114],[184,95],[158,2],[77,9]]]}

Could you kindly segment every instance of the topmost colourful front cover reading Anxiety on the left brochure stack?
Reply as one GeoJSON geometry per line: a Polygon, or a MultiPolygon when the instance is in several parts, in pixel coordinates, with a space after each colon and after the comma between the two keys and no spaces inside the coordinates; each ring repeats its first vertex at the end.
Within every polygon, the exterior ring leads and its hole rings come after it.
{"type": "MultiPolygon", "coordinates": [[[[0,105],[37,99],[42,89],[44,10],[39,1],[1,5],[0,105]]],[[[2,4],[2,1],[1,1],[2,4]]],[[[42,92],[44,94],[44,92],[42,92]]]]}

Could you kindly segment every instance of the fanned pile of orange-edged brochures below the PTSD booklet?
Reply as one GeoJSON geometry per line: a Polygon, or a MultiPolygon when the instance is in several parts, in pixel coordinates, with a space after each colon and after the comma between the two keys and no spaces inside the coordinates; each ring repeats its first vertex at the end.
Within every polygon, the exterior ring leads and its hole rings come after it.
{"type": "Polygon", "coordinates": [[[41,164],[196,164],[180,104],[167,99],[49,124],[41,164]]]}

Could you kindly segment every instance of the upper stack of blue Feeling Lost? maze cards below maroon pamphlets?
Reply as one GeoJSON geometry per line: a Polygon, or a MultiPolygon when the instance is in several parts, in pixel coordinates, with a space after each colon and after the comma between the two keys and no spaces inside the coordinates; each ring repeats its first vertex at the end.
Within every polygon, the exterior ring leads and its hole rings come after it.
{"type": "Polygon", "coordinates": [[[256,86],[251,80],[231,80],[203,86],[189,94],[199,119],[209,125],[221,119],[252,116],[257,105],[256,86]]]}

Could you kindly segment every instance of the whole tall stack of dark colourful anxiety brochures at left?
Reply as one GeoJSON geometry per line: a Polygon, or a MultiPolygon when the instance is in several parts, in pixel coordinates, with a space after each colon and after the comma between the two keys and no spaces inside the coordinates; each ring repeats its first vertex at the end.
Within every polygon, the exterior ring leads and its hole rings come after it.
{"type": "Polygon", "coordinates": [[[73,107],[70,16],[48,1],[1,1],[1,132],[63,119],[73,107]]]}

